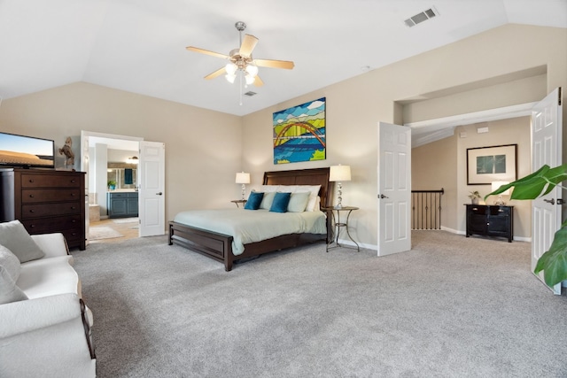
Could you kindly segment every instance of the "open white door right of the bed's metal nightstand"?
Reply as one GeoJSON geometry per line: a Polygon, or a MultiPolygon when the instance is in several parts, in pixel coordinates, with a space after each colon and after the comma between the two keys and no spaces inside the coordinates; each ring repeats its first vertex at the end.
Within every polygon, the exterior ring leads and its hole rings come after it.
{"type": "Polygon", "coordinates": [[[378,256],[409,251],[411,129],[378,123],[378,256]]]}

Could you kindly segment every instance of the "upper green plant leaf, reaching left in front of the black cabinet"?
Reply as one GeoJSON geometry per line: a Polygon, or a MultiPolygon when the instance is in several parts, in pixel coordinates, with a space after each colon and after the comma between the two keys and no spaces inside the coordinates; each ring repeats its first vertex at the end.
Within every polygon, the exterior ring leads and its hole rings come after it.
{"type": "Polygon", "coordinates": [[[512,187],[514,191],[512,191],[510,199],[535,199],[540,196],[545,196],[553,190],[556,185],[565,180],[567,180],[567,164],[555,166],[555,168],[550,168],[546,165],[520,180],[502,185],[499,189],[487,194],[485,200],[489,196],[501,194],[512,187]]]}

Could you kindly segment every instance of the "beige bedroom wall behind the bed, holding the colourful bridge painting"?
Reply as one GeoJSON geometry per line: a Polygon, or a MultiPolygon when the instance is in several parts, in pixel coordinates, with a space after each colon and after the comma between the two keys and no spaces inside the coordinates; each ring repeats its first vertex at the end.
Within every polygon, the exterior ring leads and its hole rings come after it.
{"type": "MultiPolygon", "coordinates": [[[[343,203],[361,208],[351,218],[354,236],[364,245],[376,246],[378,121],[400,122],[404,117],[416,120],[411,111],[400,109],[400,104],[436,96],[464,97],[459,102],[459,112],[521,104],[525,98],[532,98],[532,94],[518,96],[517,88],[540,96],[541,75],[545,78],[543,90],[546,93],[556,87],[567,88],[566,45],[567,29],[520,25],[497,27],[247,115],[244,117],[243,141],[245,169],[252,172],[255,180],[260,180],[260,174],[265,170],[339,163],[350,165],[353,180],[344,185],[343,203]],[[501,85],[506,84],[502,80],[517,81],[519,87],[504,85],[502,90],[501,85]],[[475,91],[478,91],[476,96],[461,96],[462,92],[475,91]],[[322,96],[327,97],[327,160],[274,166],[270,143],[272,112],[322,96]],[[486,102],[485,96],[499,101],[496,105],[486,102]],[[480,108],[478,103],[482,103],[480,108]]],[[[566,113],[567,107],[563,107],[564,120],[567,120],[566,113]]],[[[447,115],[447,112],[428,114],[431,119],[447,115]]],[[[564,145],[567,145],[564,142],[566,135],[567,132],[563,132],[564,145]]],[[[458,147],[456,153],[462,155],[459,149],[462,147],[458,147]]],[[[456,159],[457,174],[462,175],[459,156],[453,158],[456,159]]],[[[459,177],[458,182],[462,182],[459,177]]],[[[464,192],[466,188],[458,187],[457,190],[464,192]]],[[[454,203],[459,204],[458,209],[464,207],[461,202],[465,199],[454,198],[454,203]]],[[[463,215],[457,210],[454,224],[458,231],[464,230],[463,222],[463,215]]],[[[519,224],[517,228],[525,230],[529,226],[519,224]]]]}

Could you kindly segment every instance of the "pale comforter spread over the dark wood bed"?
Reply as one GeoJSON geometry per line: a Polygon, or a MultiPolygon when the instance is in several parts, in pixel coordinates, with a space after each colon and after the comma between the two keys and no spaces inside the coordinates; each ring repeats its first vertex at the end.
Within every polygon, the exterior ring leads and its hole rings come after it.
{"type": "Polygon", "coordinates": [[[287,234],[327,234],[323,212],[269,212],[268,210],[191,210],[174,220],[184,225],[233,236],[232,253],[245,251],[244,244],[287,234]]]}

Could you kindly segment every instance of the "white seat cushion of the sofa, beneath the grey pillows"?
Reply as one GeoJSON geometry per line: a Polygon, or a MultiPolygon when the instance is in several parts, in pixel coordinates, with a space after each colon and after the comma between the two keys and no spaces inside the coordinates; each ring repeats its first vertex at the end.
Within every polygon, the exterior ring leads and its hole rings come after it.
{"type": "Polygon", "coordinates": [[[24,263],[16,284],[30,299],[67,293],[81,297],[81,282],[71,261],[71,256],[61,256],[24,263]]]}

